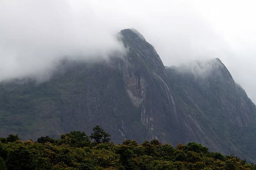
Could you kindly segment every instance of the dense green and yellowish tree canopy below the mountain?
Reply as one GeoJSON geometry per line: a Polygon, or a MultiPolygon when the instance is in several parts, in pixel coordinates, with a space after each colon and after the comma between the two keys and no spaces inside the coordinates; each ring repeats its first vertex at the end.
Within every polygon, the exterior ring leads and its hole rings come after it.
{"type": "Polygon", "coordinates": [[[158,140],[110,142],[110,135],[96,126],[88,137],[72,131],[52,139],[20,141],[18,135],[0,138],[0,169],[256,169],[235,156],[209,152],[197,143],[179,144],[176,148],[158,140]],[[92,140],[90,140],[92,139],[92,140]]]}

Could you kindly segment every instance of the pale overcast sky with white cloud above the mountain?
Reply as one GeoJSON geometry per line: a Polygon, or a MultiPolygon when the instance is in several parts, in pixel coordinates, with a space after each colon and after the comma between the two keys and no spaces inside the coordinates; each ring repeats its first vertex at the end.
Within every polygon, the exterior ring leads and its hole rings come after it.
{"type": "Polygon", "coordinates": [[[218,57],[256,102],[256,2],[251,0],[0,0],[0,80],[50,76],[63,56],[122,51],[137,29],[165,65],[218,57]]]}

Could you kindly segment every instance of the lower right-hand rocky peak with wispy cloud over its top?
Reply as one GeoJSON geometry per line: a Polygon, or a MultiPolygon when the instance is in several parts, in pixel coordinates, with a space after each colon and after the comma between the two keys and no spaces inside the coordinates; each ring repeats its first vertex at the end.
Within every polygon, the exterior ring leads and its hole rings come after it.
{"type": "Polygon", "coordinates": [[[190,108],[205,133],[214,132],[209,137],[221,144],[220,152],[255,162],[256,106],[224,64],[214,59],[166,70],[179,110],[190,108]]]}

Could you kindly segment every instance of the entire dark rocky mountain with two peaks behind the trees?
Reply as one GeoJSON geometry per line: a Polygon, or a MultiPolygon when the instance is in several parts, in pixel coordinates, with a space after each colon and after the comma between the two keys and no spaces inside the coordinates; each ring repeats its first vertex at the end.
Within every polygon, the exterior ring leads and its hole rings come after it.
{"type": "Polygon", "coordinates": [[[256,162],[256,106],[219,59],[164,67],[134,29],[120,31],[125,57],[63,61],[44,83],[0,84],[0,136],[37,139],[100,125],[114,143],[197,142],[256,162]]]}

